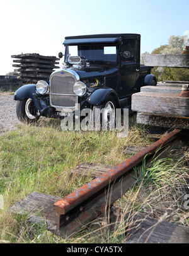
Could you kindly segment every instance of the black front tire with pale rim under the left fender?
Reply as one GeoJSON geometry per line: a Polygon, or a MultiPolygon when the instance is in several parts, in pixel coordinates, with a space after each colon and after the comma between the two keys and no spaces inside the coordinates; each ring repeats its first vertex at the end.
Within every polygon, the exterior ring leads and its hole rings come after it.
{"type": "Polygon", "coordinates": [[[37,108],[30,98],[16,102],[16,115],[20,122],[32,124],[40,118],[37,115],[37,108]]]}

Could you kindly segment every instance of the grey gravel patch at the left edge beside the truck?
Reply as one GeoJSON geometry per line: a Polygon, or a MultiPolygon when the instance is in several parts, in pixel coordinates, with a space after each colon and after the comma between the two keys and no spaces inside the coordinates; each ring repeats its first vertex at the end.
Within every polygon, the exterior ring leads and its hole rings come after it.
{"type": "Polygon", "coordinates": [[[0,134],[6,131],[16,130],[16,124],[20,121],[16,117],[14,95],[0,93],[0,134]]]}

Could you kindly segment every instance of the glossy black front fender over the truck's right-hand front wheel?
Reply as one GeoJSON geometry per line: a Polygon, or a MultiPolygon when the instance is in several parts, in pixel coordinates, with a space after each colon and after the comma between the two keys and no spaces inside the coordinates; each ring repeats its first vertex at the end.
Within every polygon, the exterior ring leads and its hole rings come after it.
{"type": "MultiPolygon", "coordinates": [[[[118,100],[118,96],[115,90],[112,88],[100,88],[93,91],[93,93],[86,100],[90,105],[101,105],[106,101],[108,96],[113,96],[115,98],[115,102],[117,103],[117,107],[120,107],[120,102],[118,100]]],[[[121,108],[121,107],[120,107],[121,108]]]]}

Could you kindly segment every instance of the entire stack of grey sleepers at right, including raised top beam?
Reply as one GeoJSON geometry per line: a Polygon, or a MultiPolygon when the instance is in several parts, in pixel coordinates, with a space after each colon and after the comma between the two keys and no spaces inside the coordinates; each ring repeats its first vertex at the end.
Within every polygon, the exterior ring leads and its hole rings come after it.
{"type": "MultiPolygon", "coordinates": [[[[188,46],[182,54],[148,54],[144,65],[153,67],[189,67],[188,46]]],[[[189,97],[180,96],[189,81],[166,81],[157,86],[144,86],[132,95],[132,111],[137,123],[156,127],[189,130],[189,97]]]]}

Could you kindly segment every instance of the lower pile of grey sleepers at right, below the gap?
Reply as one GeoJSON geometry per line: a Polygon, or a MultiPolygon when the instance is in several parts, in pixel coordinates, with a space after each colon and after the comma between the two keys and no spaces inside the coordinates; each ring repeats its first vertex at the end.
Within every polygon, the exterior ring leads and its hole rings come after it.
{"type": "Polygon", "coordinates": [[[189,97],[180,96],[186,81],[166,81],[144,86],[132,95],[137,123],[174,129],[189,129],[189,97]]]}

